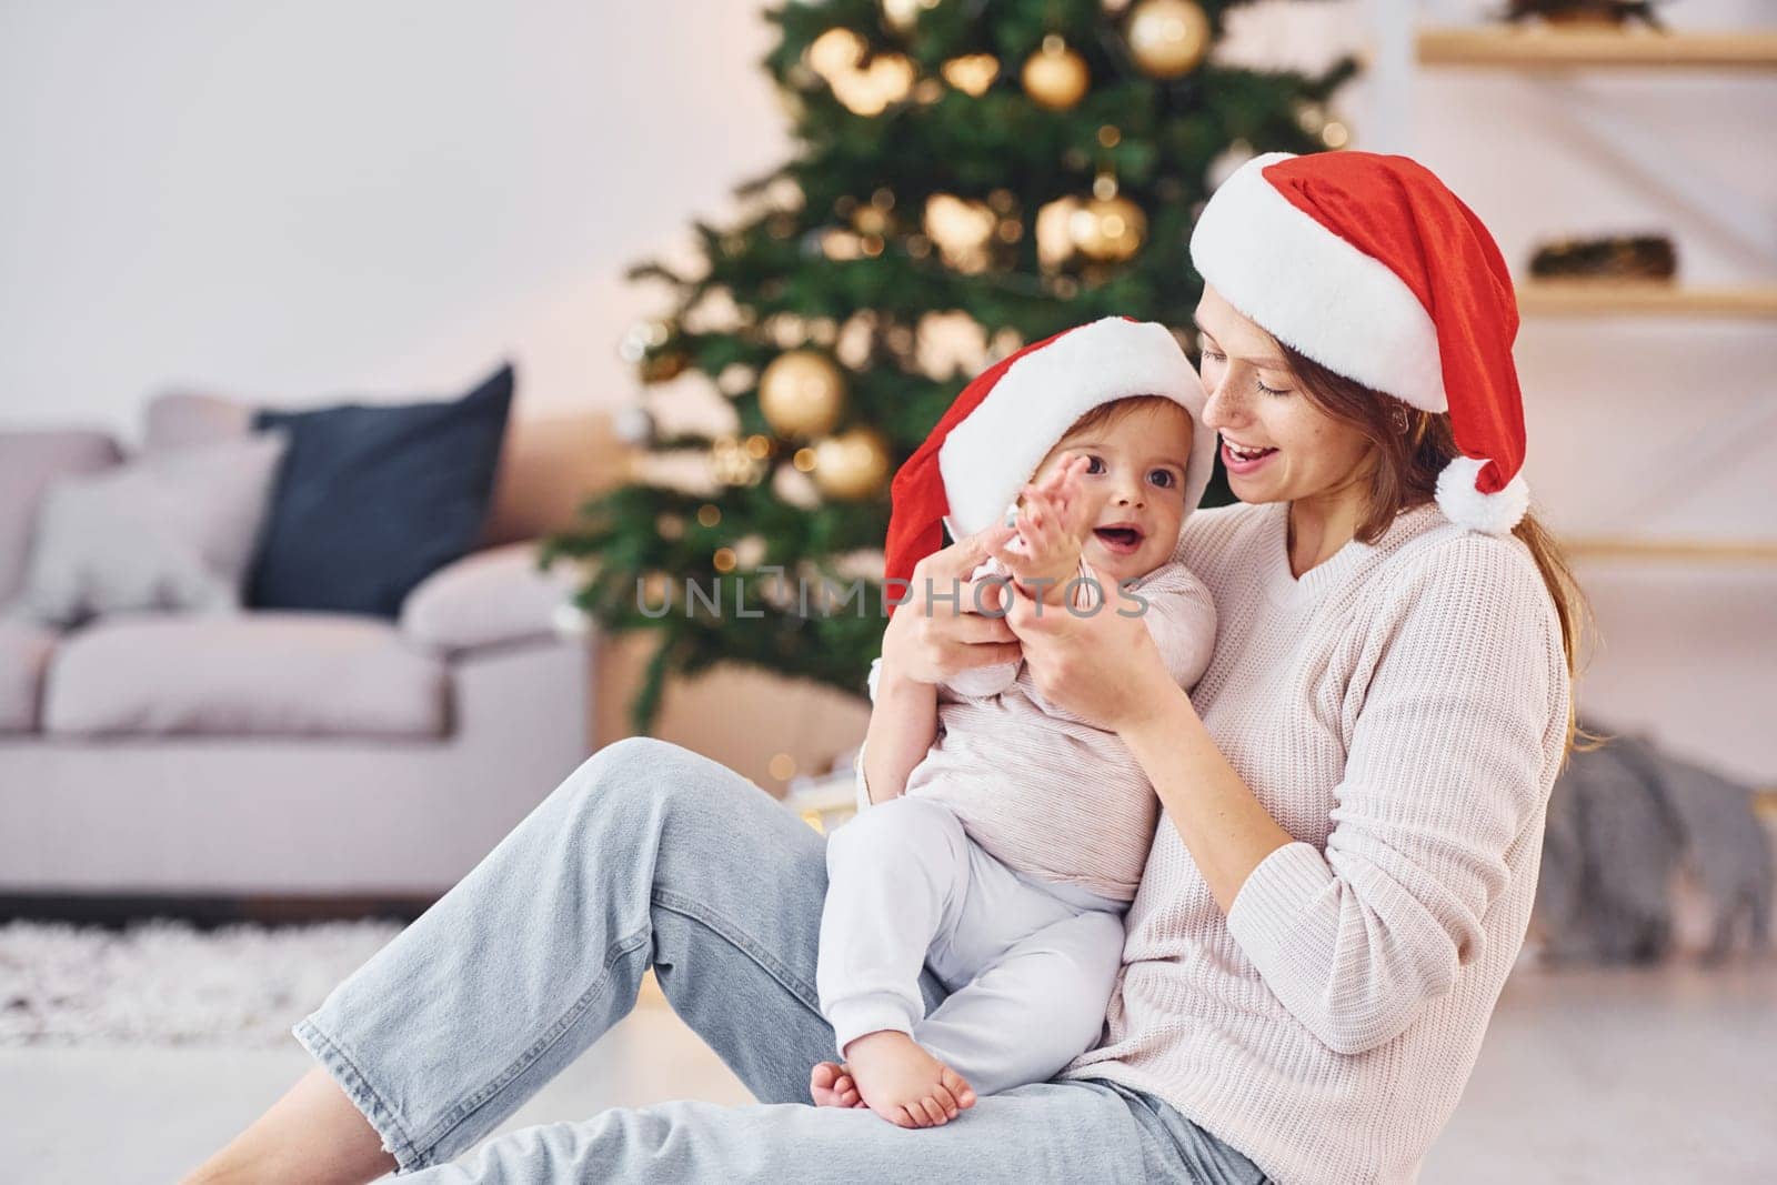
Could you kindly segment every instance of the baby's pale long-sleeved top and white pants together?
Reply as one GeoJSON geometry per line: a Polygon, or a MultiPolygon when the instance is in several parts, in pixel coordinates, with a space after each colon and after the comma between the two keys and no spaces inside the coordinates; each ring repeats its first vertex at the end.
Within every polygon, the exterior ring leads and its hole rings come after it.
{"type": "MultiPolygon", "coordinates": [[[[1004,567],[972,579],[984,574],[1004,567]]],[[[1082,576],[1098,585],[1077,606],[1139,611],[1178,686],[1198,682],[1215,608],[1189,569],[1164,563],[1123,592],[1084,561],[1082,576]]],[[[1022,661],[938,684],[938,737],[906,792],[826,842],[816,988],[841,1054],[908,1032],[981,1094],[1059,1071],[1098,1039],[1157,819],[1116,734],[1043,700],[1022,661]],[[951,991],[929,1016],[920,965],[951,991]]]]}

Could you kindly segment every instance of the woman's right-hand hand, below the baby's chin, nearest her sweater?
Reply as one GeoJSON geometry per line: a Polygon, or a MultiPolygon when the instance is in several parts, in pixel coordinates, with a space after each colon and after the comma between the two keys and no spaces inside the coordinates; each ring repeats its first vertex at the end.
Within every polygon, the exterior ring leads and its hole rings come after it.
{"type": "Polygon", "coordinates": [[[1024,645],[1024,666],[1050,704],[1125,732],[1155,711],[1185,700],[1139,616],[1107,599],[1095,613],[1038,604],[1009,588],[1006,622],[1024,645]]]}

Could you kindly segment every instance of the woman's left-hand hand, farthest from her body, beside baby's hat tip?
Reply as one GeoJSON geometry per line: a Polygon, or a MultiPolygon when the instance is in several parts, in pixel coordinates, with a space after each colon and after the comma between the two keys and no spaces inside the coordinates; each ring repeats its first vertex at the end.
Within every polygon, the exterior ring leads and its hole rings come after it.
{"type": "Polygon", "coordinates": [[[908,600],[883,631],[881,680],[936,684],[963,670],[1018,657],[1018,638],[1004,616],[990,616],[1000,611],[1006,581],[968,579],[988,558],[988,547],[1002,545],[1011,535],[1013,528],[995,524],[913,565],[908,600]],[[977,604],[986,613],[977,611],[977,604]]]}

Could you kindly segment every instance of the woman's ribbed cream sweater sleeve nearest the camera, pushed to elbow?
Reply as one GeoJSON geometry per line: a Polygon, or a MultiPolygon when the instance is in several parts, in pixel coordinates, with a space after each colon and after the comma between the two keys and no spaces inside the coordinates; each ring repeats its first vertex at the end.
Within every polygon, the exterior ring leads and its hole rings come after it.
{"type": "Polygon", "coordinates": [[[1466,535],[1416,563],[1345,689],[1326,851],[1278,847],[1228,910],[1271,991],[1336,1054],[1391,1041],[1452,990],[1480,954],[1512,844],[1548,807],[1567,672],[1553,606],[1516,545],[1466,535]]]}

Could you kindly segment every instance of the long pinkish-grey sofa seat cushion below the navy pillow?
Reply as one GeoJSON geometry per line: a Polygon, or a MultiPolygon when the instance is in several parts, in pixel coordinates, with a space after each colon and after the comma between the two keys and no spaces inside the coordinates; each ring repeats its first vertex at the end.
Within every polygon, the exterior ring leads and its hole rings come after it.
{"type": "Polygon", "coordinates": [[[389,622],[332,613],[119,615],[50,661],[50,736],[441,737],[450,672],[389,622]]]}

